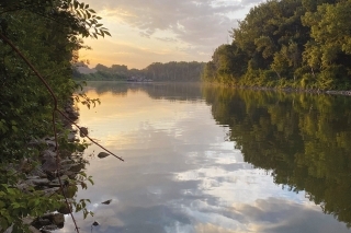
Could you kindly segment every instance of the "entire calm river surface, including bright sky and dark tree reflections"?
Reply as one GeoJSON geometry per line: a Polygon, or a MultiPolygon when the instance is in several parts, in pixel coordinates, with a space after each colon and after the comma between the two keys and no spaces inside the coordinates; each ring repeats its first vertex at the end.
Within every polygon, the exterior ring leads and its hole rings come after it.
{"type": "MultiPolygon", "coordinates": [[[[81,232],[351,232],[350,97],[92,82],[81,232]],[[112,199],[110,205],[102,201],[112,199]],[[91,229],[93,221],[100,223],[91,229]]],[[[73,232],[66,218],[60,232],[73,232]]]]}

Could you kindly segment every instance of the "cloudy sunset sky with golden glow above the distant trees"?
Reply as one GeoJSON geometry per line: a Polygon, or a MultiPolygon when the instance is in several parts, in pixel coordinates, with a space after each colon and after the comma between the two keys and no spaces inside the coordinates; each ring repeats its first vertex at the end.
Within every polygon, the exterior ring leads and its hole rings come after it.
{"type": "Polygon", "coordinates": [[[84,39],[89,67],[208,61],[229,32],[262,0],[82,0],[102,16],[112,37],[84,39]]]}

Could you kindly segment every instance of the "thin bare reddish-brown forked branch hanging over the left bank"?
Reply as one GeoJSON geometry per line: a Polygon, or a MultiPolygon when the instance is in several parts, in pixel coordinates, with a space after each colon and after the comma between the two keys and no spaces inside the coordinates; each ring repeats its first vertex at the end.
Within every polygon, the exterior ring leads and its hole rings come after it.
{"type": "MultiPolygon", "coordinates": [[[[67,207],[69,208],[69,213],[70,213],[70,217],[75,223],[75,228],[76,228],[76,231],[79,233],[79,228],[77,225],[77,222],[76,222],[76,219],[73,217],[73,213],[72,213],[72,208],[71,208],[71,205],[69,203],[68,201],[68,198],[67,198],[67,195],[65,193],[65,188],[64,188],[64,185],[63,185],[63,180],[61,178],[59,177],[59,151],[58,151],[58,139],[57,139],[57,129],[56,129],[56,112],[59,113],[63,117],[65,117],[66,119],[68,119],[71,124],[73,124],[78,129],[79,131],[81,132],[81,129],[80,127],[73,123],[71,119],[69,119],[60,109],[58,109],[58,101],[57,101],[57,97],[56,95],[54,94],[54,91],[52,90],[52,88],[49,86],[49,84],[46,82],[46,80],[39,74],[39,72],[34,68],[34,66],[24,57],[24,55],[12,44],[12,42],[10,39],[8,39],[2,33],[0,33],[0,38],[5,42],[23,60],[24,62],[33,70],[33,72],[35,73],[35,75],[42,81],[42,83],[44,84],[44,86],[46,88],[46,90],[49,92],[49,94],[52,95],[53,97],[53,101],[54,101],[54,109],[53,109],[53,116],[52,116],[52,121],[53,121],[53,131],[54,131],[54,136],[55,136],[55,150],[56,150],[56,168],[57,168],[57,178],[58,178],[58,182],[59,182],[59,185],[60,185],[60,189],[63,191],[63,195],[64,195],[64,198],[65,198],[65,201],[66,201],[66,205],[67,207]]],[[[87,136],[84,132],[82,132],[82,135],[84,135],[91,142],[95,143],[97,145],[99,145],[100,148],[102,148],[103,150],[105,150],[106,152],[111,153],[112,155],[114,155],[115,158],[117,158],[118,160],[121,161],[124,161],[122,158],[115,155],[114,153],[112,153],[111,151],[109,151],[107,149],[105,149],[104,147],[102,147],[101,144],[99,144],[98,142],[95,142],[93,139],[91,139],[89,136],[87,136]]]]}

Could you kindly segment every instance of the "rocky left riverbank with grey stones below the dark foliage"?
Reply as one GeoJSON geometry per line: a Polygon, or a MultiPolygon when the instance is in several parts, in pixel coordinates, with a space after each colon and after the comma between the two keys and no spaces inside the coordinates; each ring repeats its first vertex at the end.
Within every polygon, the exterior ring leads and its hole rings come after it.
{"type": "MultiPolygon", "coordinates": [[[[66,116],[75,121],[79,114],[69,103],[65,107],[66,116]]],[[[83,186],[81,172],[87,161],[82,159],[82,151],[78,148],[78,130],[73,129],[69,120],[64,120],[64,130],[58,133],[59,148],[56,148],[55,137],[33,139],[27,143],[29,149],[38,151],[38,156],[21,160],[20,164],[12,164],[9,171],[16,171],[21,178],[14,188],[23,194],[36,193],[38,197],[30,201],[39,201],[39,197],[53,199],[58,205],[39,217],[25,217],[23,224],[31,232],[50,232],[65,225],[65,214],[70,213],[76,201],[75,194],[78,185],[83,186]],[[66,147],[61,147],[66,144],[66,147]],[[67,145],[70,145],[71,150],[67,145]],[[68,207],[69,206],[69,207],[68,207]]],[[[87,129],[87,128],[84,128],[87,129]]],[[[86,132],[88,135],[88,130],[86,132]]],[[[13,225],[5,232],[11,233],[13,225]]],[[[0,229],[1,230],[1,229],[0,229]]]]}

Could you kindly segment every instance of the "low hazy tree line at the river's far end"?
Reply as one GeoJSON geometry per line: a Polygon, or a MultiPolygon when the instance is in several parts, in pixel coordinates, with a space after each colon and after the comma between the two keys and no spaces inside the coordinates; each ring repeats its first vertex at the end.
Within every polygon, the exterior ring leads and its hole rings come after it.
{"type": "Polygon", "coordinates": [[[145,69],[128,69],[125,65],[112,65],[111,67],[97,65],[97,71],[92,73],[75,72],[76,79],[82,80],[127,80],[132,77],[143,77],[154,81],[200,81],[204,62],[185,62],[185,61],[171,61],[167,63],[154,62],[145,69]]]}

